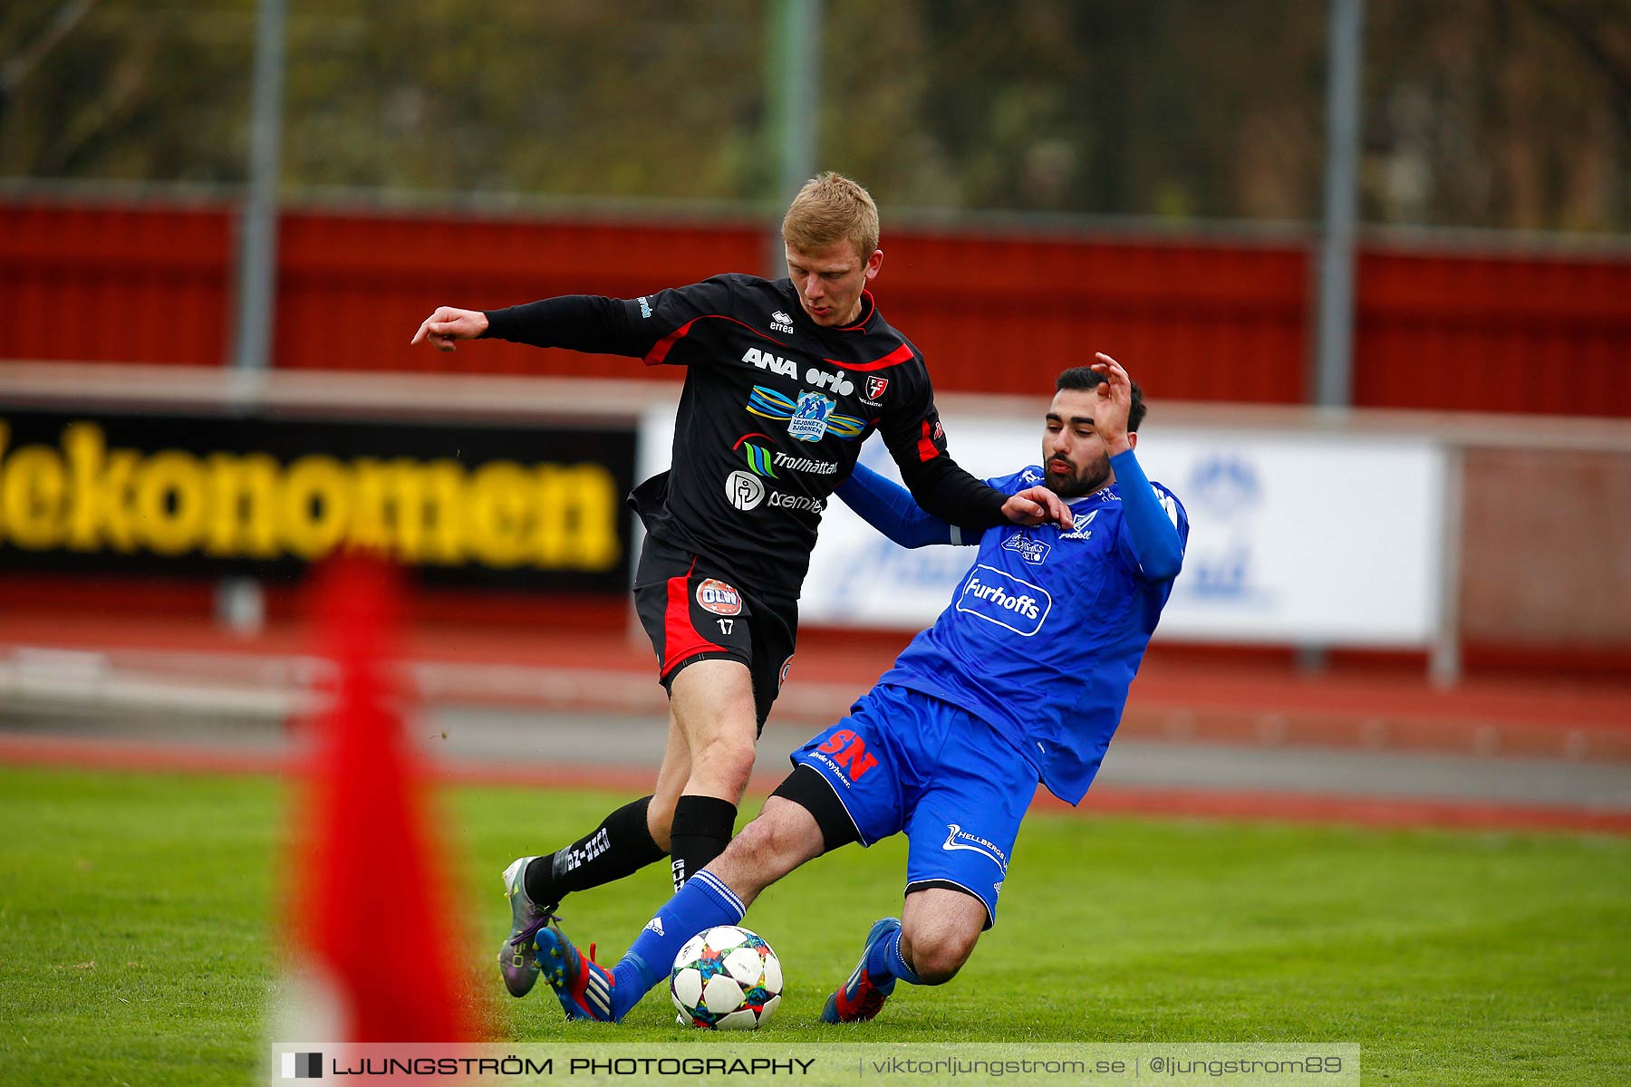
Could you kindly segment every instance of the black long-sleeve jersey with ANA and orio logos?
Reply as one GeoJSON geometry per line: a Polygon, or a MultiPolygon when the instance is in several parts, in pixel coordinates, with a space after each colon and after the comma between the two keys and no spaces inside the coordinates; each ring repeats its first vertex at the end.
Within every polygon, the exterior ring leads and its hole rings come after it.
{"type": "Polygon", "coordinates": [[[687,367],[672,468],[630,500],[646,531],[747,590],[798,596],[822,510],[874,430],[925,510],[972,530],[1003,520],[1006,495],[948,456],[923,355],[871,293],[832,329],[791,280],[736,274],[631,300],[545,298],[488,323],[496,339],[687,367]]]}

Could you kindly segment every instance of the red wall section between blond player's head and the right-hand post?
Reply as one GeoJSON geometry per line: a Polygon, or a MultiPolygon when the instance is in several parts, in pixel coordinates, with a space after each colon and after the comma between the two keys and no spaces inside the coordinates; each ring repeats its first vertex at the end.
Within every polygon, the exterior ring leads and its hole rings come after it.
{"type": "Polygon", "coordinates": [[[1036,394],[1106,350],[1163,399],[1303,399],[1297,249],[900,233],[884,254],[879,306],[936,388],[1036,394]]]}

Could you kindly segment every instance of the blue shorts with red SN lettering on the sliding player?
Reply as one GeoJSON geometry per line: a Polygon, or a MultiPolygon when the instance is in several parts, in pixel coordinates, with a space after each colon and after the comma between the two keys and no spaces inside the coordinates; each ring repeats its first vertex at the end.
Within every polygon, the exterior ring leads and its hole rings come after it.
{"type": "Polygon", "coordinates": [[[907,833],[907,893],[953,885],[985,903],[1008,875],[1037,772],[988,724],[907,688],[876,686],[789,756],[817,771],[863,846],[907,833]]]}

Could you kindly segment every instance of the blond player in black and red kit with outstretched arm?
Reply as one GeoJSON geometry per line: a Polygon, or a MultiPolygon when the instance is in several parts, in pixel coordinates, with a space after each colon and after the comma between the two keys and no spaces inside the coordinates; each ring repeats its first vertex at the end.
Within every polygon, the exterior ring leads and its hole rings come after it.
{"type": "Polygon", "coordinates": [[[884,261],[866,189],[814,178],[781,235],[788,279],[726,274],[630,300],[440,306],[413,337],[440,350],[489,337],[687,368],[672,468],[630,495],[646,525],[634,603],[669,693],[662,768],[652,795],[506,869],[499,970],[517,997],[538,979],[535,937],[566,893],[664,856],[678,888],[724,851],[793,658],[820,513],[868,435],[882,433],[912,495],[951,525],[1070,523],[1045,487],[1010,497],[948,456],[923,355],[866,290],[884,261]]]}

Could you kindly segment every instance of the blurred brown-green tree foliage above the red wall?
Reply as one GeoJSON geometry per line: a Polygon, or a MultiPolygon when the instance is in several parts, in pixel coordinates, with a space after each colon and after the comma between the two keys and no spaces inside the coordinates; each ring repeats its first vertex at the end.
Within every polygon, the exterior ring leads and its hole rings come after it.
{"type": "MultiPolygon", "coordinates": [[[[254,0],[10,0],[0,176],[236,184],[254,0]]],[[[892,209],[1306,220],[1326,3],[827,0],[824,166],[892,209]]],[[[282,179],[775,200],[755,0],[289,0],[282,179]]],[[[1626,231],[1631,3],[1370,0],[1364,217],[1626,231]]]]}

